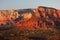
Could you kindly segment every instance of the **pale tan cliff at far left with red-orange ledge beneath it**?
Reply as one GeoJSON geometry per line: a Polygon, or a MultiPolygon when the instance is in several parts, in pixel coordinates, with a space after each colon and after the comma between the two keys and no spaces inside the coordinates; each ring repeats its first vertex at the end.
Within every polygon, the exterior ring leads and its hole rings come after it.
{"type": "Polygon", "coordinates": [[[0,24],[6,24],[7,20],[15,20],[19,14],[15,10],[2,10],[0,11],[0,24]]]}

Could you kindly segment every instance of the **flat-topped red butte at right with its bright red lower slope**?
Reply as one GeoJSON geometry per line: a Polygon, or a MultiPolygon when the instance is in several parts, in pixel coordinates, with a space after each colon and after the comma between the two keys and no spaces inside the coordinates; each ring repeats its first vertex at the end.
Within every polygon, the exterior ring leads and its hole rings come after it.
{"type": "Polygon", "coordinates": [[[33,30],[54,30],[60,25],[60,12],[55,8],[50,7],[38,7],[33,10],[34,16],[26,22],[18,22],[19,28],[33,29],[33,30]]]}

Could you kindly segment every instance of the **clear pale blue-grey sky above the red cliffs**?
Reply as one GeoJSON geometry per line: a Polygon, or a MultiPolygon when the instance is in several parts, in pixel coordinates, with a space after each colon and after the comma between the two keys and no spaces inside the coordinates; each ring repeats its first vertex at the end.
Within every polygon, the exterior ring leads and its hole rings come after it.
{"type": "Polygon", "coordinates": [[[37,8],[38,6],[60,9],[60,0],[0,0],[0,10],[37,8]]]}

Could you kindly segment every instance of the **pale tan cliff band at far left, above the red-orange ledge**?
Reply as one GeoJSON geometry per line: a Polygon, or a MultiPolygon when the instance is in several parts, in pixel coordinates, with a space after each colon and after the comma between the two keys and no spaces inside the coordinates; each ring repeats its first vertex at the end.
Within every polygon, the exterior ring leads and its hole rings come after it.
{"type": "MultiPolygon", "coordinates": [[[[13,19],[15,19],[15,18],[18,18],[19,17],[19,14],[18,14],[18,12],[17,11],[15,11],[15,10],[7,10],[7,11],[0,11],[0,18],[13,18],[13,19]]],[[[4,20],[4,19],[3,19],[4,20]]]]}

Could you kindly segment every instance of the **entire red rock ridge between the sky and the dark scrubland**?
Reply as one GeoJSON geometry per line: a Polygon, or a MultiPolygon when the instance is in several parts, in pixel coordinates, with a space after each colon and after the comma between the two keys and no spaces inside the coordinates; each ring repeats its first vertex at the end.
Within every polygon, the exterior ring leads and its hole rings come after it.
{"type": "Polygon", "coordinates": [[[10,24],[14,24],[18,30],[54,30],[60,27],[60,10],[43,6],[33,9],[0,10],[0,29],[10,29],[10,24]]]}

